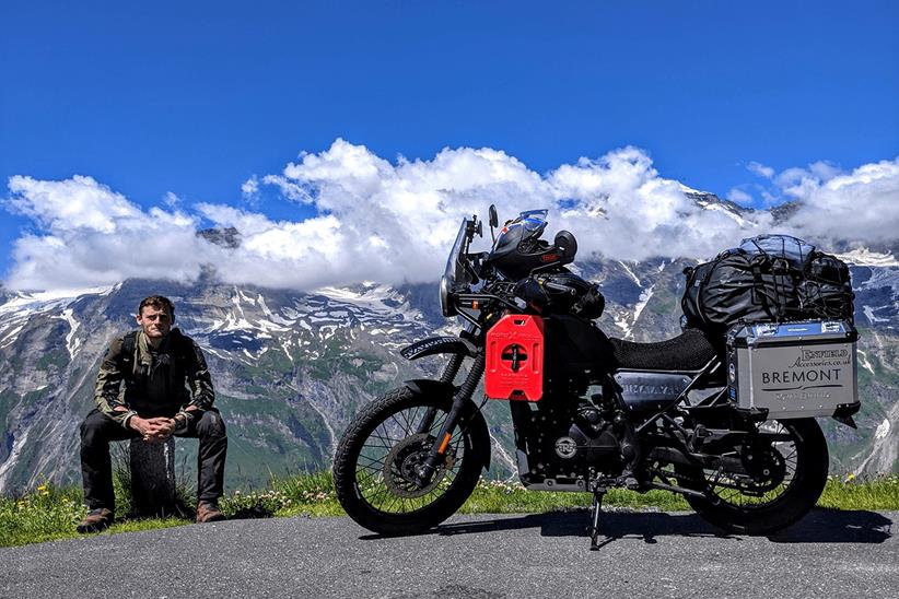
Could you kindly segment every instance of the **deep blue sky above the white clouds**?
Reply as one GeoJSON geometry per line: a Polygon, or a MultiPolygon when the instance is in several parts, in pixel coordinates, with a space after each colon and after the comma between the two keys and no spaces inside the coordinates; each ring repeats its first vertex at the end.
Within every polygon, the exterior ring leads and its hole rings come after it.
{"type": "MultiPolygon", "coordinates": [[[[299,225],[349,204],[247,181],[301,152],[335,157],[337,140],[394,166],[491,149],[547,180],[635,146],[665,180],[757,207],[796,197],[791,169],[820,187],[899,156],[896,2],[8,0],[0,23],[0,278],[13,285],[39,285],[22,272],[47,259],[23,238],[83,237],[46,212],[71,186],[36,199],[38,183],[75,175],[124,213],[299,225]]],[[[133,274],[106,267],[98,283],[133,274]]]]}

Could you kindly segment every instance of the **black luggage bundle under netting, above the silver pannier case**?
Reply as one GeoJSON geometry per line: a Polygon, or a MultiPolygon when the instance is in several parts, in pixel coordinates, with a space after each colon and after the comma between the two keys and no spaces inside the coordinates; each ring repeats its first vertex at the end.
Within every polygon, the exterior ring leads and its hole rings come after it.
{"type": "Polygon", "coordinates": [[[732,325],[853,320],[849,267],[789,235],[760,235],[684,270],[687,325],[724,333],[732,325]]]}

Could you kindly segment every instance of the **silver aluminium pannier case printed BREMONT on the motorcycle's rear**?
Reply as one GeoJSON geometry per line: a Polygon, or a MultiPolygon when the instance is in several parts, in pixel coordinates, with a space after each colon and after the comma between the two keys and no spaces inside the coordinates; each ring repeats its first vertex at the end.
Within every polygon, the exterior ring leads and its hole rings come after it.
{"type": "Polygon", "coordinates": [[[853,413],[857,338],[847,320],[735,325],[726,338],[728,394],[740,408],[768,409],[769,419],[853,413]]]}

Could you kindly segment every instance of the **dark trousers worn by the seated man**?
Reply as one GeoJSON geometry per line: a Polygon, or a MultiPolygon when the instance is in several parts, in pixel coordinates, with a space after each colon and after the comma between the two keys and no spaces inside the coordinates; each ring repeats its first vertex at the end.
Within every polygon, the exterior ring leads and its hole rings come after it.
{"type": "MultiPolygon", "coordinates": [[[[198,410],[192,415],[187,430],[176,436],[200,439],[197,453],[197,500],[218,502],[223,493],[227,453],[224,422],[214,408],[198,410]]],[[[124,428],[98,410],[91,411],[81,423],[81,477],[84,481],[84,503],[89,509],[106,507],[115,510],[109,442],[131,438],[140,438],[140,433],[124,428]]]]}

